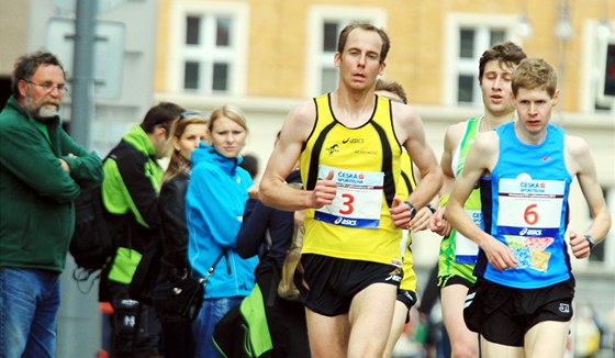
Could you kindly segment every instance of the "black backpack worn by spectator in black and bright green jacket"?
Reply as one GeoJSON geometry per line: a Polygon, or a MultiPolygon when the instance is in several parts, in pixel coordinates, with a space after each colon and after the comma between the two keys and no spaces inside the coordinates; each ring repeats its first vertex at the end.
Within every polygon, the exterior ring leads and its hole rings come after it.
{"type": "Polygon", "coordinates": [[[88,281],[96,272],[94,279],[98,278],[115,253],[114,235],[105,216],[101,187],[82,189],[75,200],[75,233],[68,247],[78,266],[72,272],[78,282],[88,281]]]}

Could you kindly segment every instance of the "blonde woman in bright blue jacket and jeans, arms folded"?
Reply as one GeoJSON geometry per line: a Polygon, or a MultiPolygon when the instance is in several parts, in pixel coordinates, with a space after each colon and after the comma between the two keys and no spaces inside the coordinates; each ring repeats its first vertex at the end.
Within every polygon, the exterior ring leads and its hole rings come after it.
{"type": "Polygon", "coordinates": [[[242,112],[234,107],[215,109],[210,118],[211,146],[201,144],[192,153],[192,177],[186,195],[188,258],[192,276],[204,277],[221,257],[209,277],[204,302],[192,324],[197,357],[216,357],[211,338],[216,323],[238,305],[254,287],[258,258],[243,259],[236,250],[242,226],[249,174],[241,168],[239,152],[248,128],[242,112]]]}

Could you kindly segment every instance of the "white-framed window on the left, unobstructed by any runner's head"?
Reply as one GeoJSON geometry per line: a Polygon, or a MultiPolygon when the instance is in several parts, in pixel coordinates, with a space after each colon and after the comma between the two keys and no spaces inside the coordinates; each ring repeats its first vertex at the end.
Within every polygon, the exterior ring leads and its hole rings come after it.
{"type": "Polygon", "coordinates": [[[247,12],[243,3],[178,2],[169,80],[178,91],[245,91],[247,12]]]}

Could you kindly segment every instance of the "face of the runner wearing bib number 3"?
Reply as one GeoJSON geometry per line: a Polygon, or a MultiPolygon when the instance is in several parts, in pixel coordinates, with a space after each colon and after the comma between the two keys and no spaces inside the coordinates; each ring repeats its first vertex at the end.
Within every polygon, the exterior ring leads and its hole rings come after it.
{"type": "Polygon", "coordinates": [[[339,67],[340,79],[354,89],[373,88],[384,64],[380,63],[382,38],[374,31],[355,29],[348,34],[342,54],[335,54],[335,66],[339,67]]]}

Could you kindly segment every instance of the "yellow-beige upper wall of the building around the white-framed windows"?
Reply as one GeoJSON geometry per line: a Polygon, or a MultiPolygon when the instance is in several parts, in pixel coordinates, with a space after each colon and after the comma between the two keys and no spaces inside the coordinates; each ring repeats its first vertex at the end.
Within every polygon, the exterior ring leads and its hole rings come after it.
{"type": "MultiPolygon", "coordinates": [[[[160,0],[158,19],[158,58],[156,90],[165,91],[166,57],[170,3],[185,0],[160,0]]],[[[208,2],[209,0],[201,0],[208,2]]],[[[446,15],[507,14],[521,16],[527,3],[527,16],[533,35],[525,38],[523,46],[532,56],[547,59],[559,66],[563,58],[567,65],[567,90],[564,111],[578,111],[575,98],[581,90],[580,70],[583,48],[582,31],[586,19],[615,19],[615,0],[570,1],[571,23],[574,35],[564,47],[555,38],[555,26],[559,16],[560,0],[536,1],[404,1],[383,0],[226,0],[249,4],[249,48],[247,70],[247,96],[302,98],[305,88],[306,61],[315,60],[306,55],[305,41],[310,31],[308,13],[313,5],[351,5],[353,8],[379,7],[387,10],[387,29],[392,49],[388,58],[385,76],[403,83],[412,102],[439,105],[443,103],[443,66],[446,48],[446,15]],[[560,51],[566,52],[560,57],[560,51]]],[[[212,1],[214,2],[214,1],[212,1]]],[[[450,54],[450,53],[448,53],[450,54]]],[[[450,55],[448,55],[450,56],[450,55]]],[[[333,59],[332,59],[333,60],[333,59]]]]}

